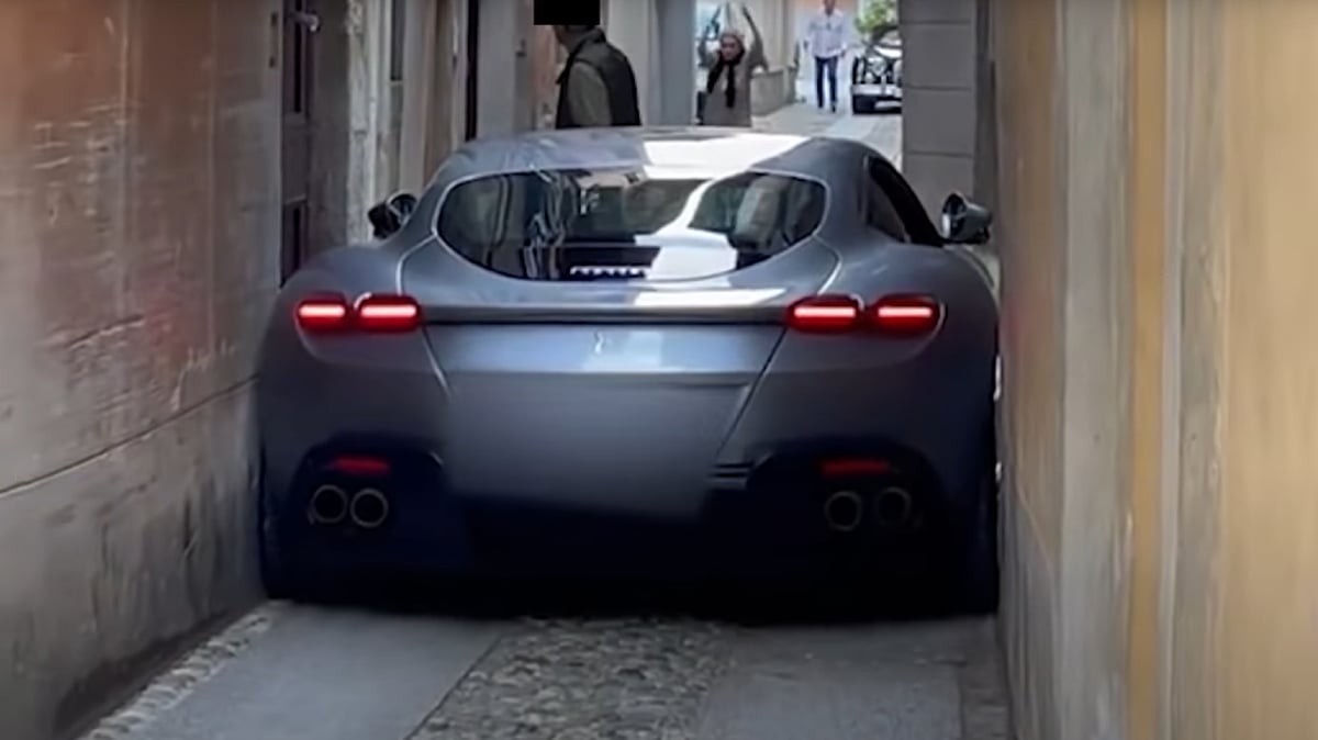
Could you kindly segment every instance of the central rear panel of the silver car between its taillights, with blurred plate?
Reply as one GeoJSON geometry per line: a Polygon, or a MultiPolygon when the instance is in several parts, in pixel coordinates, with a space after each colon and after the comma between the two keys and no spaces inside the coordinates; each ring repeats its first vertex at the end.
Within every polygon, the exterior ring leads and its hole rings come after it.
{"type": "Polygon", "coordinates": [[[721,441],[783,329],[550,324],[428,333],[448,387],[442,438],[456,490],[535,491],[567,506],[685,517],[699,511],[721,441]],[[497,412],[509,406],[517,413],[497,412]]]}

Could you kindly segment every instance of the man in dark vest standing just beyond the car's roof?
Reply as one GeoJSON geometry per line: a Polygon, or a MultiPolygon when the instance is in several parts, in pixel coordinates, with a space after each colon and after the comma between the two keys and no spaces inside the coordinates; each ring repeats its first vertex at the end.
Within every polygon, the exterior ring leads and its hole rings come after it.
{"type": "Polygon", "coordinates": [[[554,34],[568,51],[555,128],[639,126],[637,76],[626,54],[597,25],[556,25],[554,34]]]}

